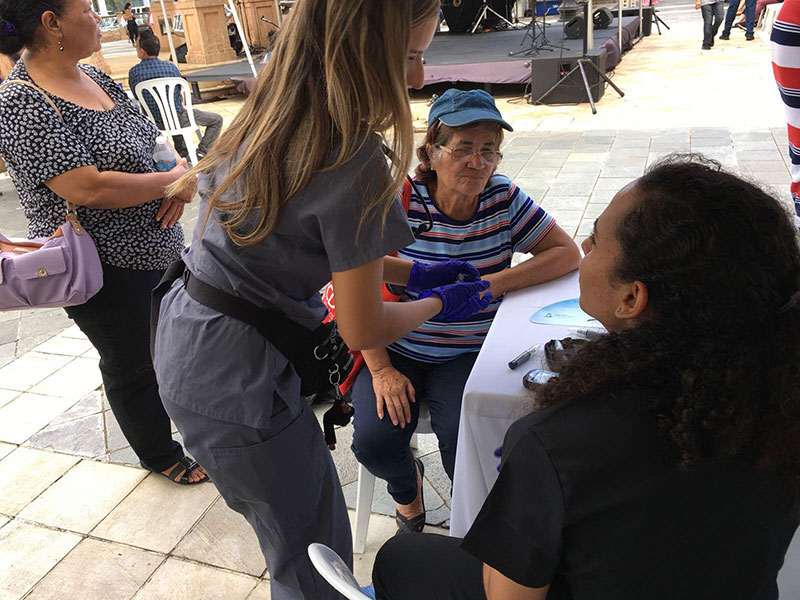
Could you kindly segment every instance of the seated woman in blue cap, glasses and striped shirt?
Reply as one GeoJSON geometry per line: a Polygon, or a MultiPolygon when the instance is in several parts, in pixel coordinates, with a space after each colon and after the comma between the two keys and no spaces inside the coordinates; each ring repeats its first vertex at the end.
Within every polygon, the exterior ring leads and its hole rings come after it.
{"type": "Polygon", "coordinates": [[[559,277],[580,261],[570,236],[497,173],[503,130],[512,128],[491,95],[448,90],[431,107],[428,124],[407,209],[416,241],[398,256],[469,262],[489,281],[495,300],[461,322],[426,321],[386,348],[362,352],[368,370],[353,386],[353,451],[387,481],[400,532],[420,532],[425,525],[423,464],[409,447],[419,400],[429,403],[452,481],[464,385],[503,294],[559,277]],[[534,258],[512,267],[514,252],[534,258]]]}

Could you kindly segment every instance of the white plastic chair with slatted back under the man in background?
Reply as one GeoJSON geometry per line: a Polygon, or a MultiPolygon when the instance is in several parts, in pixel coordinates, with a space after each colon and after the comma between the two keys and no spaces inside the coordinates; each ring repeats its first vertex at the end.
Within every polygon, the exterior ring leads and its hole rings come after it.
{"type": "Polygon", "coordinates": [[[186,149],[189,152],[189,158],[193,165],[197,164],[197,145],[192,140],[192,134],[195,133],[200,137],[200,131],[197,123],[194,120],[194,112],[192,111],[192,91],[189,83],[182,77],[159,77],[157,79],[148,79],[142,81],[133,90],[133,93],[139,100],[139,105],[144,109],[147,118],[153,123],[158,123],[150,110],[150,105],[145,101],[143,92],[148,92],[158,107],[158,112],[161,114],[163,127],[161,132],[167,136],[179,135],[183,138],[186,144],[186,149]],[[189,126],[183,127],[178,119],[178,111],[175,107],[175,90],[180,89],[181,97],[183,99],[183,109],[189,116],[189,126]]]}

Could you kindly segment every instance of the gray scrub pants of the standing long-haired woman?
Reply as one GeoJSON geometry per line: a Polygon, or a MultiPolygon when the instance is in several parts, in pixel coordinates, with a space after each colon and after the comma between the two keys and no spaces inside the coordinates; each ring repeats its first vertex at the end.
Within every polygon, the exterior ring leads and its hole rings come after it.
{"type": "Polygon", "coordinates": [[[343,598],[307,548],[321,542],[352,568],[350,520],[339,477],[311,408],[292,417],[276,396],[269,429],[211,419],[167,398],[164,408],[233,510],[247,519],[267,561],[273,600],[343,598]]]}

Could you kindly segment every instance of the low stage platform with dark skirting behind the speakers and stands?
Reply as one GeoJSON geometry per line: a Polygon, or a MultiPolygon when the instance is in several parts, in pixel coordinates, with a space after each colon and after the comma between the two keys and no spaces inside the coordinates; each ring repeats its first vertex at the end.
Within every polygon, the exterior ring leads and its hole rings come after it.
{"type": "MultiPolygon", "coordinates": [[[[639,17],[623,17],[623,51],[632,47],[632,40],[638,35],[639,17]]],[[[583,41],[564,37],[563,23],[547,24],[547,39],[555,46],[552,51],[540,51],[529,56],[509,56],[530,47],[530,36],[525,37],[525,29],[495,31],[471,34],[437,34],[430,48],[425,52],[425,85],[442,82],[468,82],[483,84],[521,84],[530,82],[531,68],[526,67],[533,59],[536,68],[537,57],[561,56],[578,57],[582,53],[583,41]],[[524,43],[523,43],[524,42],[524,43]]],[[[617,46],[618,25],[615,18],[607,29],[595,29],[594,46],[606,49],[606,70],[610,71],[620,61],[617,46]]],[[[263,67],[260,62],[256,68],[263,67]]],[[[186,75],[191,82],[227,81],[236,83],[240,91],[247,93],[253,83],[252,71],[246,60],[238,63],[196,71],[186,75]]]]}

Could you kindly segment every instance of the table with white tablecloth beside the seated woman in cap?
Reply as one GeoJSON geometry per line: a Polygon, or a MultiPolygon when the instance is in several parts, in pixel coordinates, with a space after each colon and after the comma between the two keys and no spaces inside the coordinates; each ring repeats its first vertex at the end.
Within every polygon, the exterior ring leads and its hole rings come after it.
{"type": "Polygon", "coordinates": [[[464,537],[497,479],[494,450],[511,423],[530,412],[522,377],[542,368],[545,342],[569,335],[567,327],[530,322],[538,309],[578,297],[578,272],[506,295],[464,388],[453,477],[450,535],[464,537]],[[539,352],[515,370],[508,362],[534,344],[539,352]]]}

